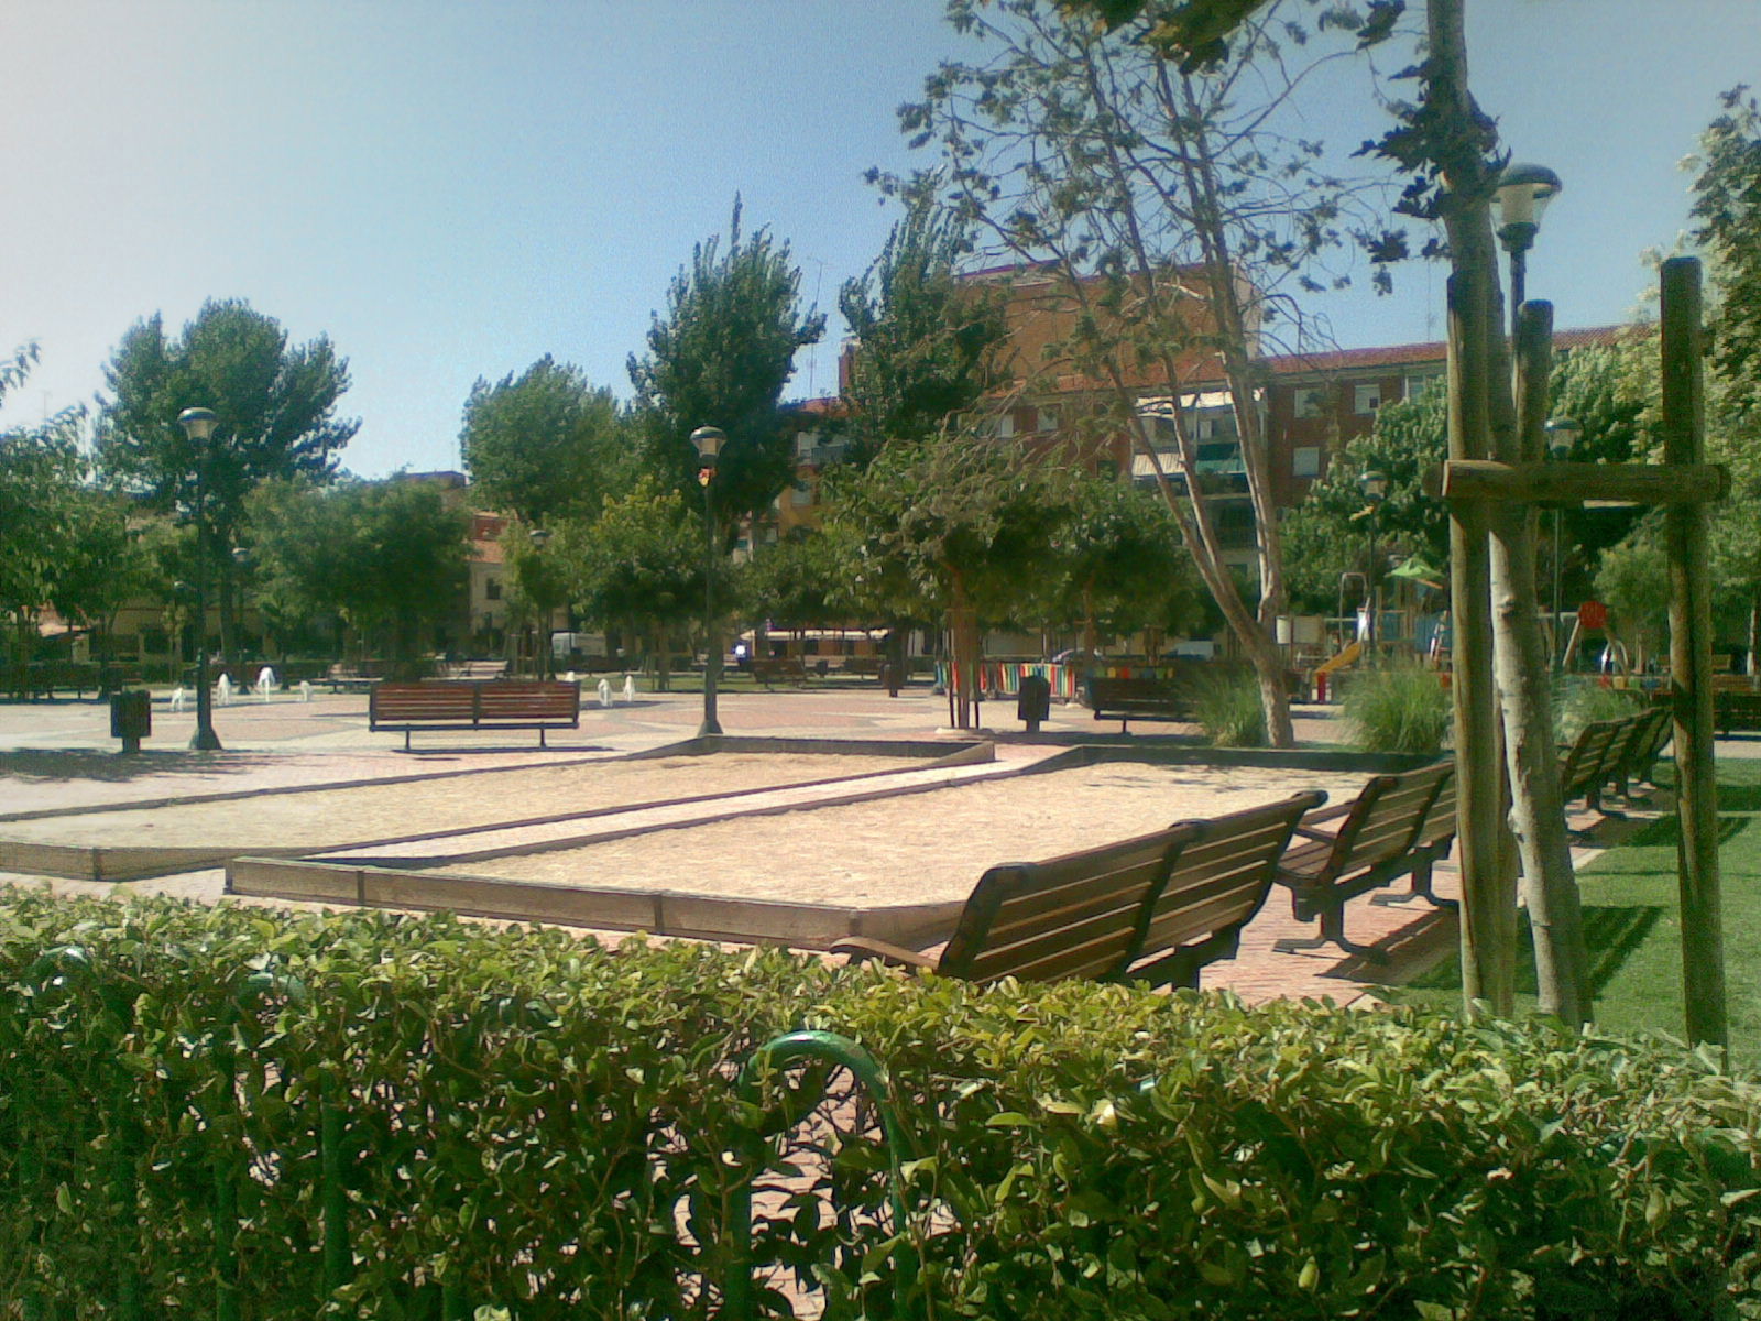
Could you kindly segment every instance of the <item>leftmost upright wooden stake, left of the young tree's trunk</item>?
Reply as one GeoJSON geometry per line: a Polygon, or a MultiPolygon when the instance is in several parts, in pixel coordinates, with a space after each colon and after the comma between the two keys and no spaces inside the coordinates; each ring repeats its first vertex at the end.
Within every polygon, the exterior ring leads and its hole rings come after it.
{"type": "MultiPolygon", "coordinates": [[[[1449,458],[1486,454],[1486,354],[1472,306],[1485,284],[1449,277],[1449,458]]],[[[1477,315],[1476,315],[1477,312],[1477,315]]],[[[1449,659],[1455,697],[1456,849],[1462,867],[1462,990],[1497,1015],[1514,1007],[1516,911],[1502,877],[1504,777],[1492,690],[1492,557],[1486,511],[1449,506],[1449,659]]]]}

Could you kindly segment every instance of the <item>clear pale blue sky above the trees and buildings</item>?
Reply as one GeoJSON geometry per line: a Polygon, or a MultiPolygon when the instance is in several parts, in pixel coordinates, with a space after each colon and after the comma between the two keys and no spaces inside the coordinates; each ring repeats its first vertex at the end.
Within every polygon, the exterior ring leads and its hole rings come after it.
{"type": "MultiPolygon", "coordinates": [[[[1761,83],[1754,0],[1467,0],[1481,104],[1566,192],[1530,259],[1562,326],[1627,317],[1687,222],[1678,162],[1761,83]]],[[[350,359],[366,476],[458,465],[470,384],[541,354],[629,395],[625,359],[692,243],[789,240],[833,312],[910,164],[895,107],[970,55],[939,0],[11,0],[0,18],[0,414],[88,400],[139,317],[245,298],[350,359]]],[[[1312,111],[1342,144],[1356,97],[1312,111]]],[[[1440,335],[1442,275],[1330,298],[1345,347],[1440,335]]],[[[789,393],[836,387],[836,338],[789,393]]]]}

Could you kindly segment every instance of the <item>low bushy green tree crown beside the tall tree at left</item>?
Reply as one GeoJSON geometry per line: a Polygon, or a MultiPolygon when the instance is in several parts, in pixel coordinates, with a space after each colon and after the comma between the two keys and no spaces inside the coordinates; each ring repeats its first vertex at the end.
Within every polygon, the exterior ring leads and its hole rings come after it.
{"type": "Polygon", "coordinates": [[[259,601],[284,631],[340,615],[409,662],[433,648],[424,629],[458,609],[470,514],[430,483],[268,483],[248,509],[259,601]]]}

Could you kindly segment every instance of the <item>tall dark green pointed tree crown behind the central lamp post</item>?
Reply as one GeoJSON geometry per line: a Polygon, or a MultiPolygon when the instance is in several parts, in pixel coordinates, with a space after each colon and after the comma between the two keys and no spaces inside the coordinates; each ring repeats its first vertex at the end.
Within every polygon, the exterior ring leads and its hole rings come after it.
{"type": "Polygon", "coordinates": [[[729,532],[794,476],[777,403],[796,351],[826,333],[824,315],[799,305],[801,271],[787,241],[768,229],[745,234],[736,197],[726,250],[720,238],[692,248],[667,289],[666,315],[655,314],[648,328],[648,352],[629,359],[652,467],[680,491],[690,495],[697,483],[690,433],[727,433],[715,500],[729,532]]]}

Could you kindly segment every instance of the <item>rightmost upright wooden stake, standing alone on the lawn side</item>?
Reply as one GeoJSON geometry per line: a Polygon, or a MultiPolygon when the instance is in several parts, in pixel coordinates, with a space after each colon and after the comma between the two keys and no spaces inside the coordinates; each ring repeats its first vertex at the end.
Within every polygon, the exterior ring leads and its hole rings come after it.
{"type": "MultiPolygon", "coordinates": [[[[1705,453],[1699,261],[1662,264],[1664,463],[1705,453]]],[[[1712,752],[1712,597],[1703,506],[1669,506],[1669,697],[1680,831],[1682,997],[1689,1041],[1729,1044],[1724,1004],[1724,921],[1719,905],[1719,815],[1712,752]]]]}

